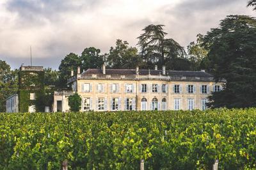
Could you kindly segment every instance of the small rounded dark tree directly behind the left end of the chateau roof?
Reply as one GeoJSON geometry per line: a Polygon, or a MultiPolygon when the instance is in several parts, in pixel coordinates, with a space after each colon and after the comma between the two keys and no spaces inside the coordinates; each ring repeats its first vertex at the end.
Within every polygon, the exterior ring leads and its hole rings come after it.
{"type": "Polygon", "coordinates": [[[84,49],[80,58],[82,70],[87,70],[88,68],[100,68],[104,63],[103,56],[100,55],[100,49],[96,49],[95,47],[84,49]]]}

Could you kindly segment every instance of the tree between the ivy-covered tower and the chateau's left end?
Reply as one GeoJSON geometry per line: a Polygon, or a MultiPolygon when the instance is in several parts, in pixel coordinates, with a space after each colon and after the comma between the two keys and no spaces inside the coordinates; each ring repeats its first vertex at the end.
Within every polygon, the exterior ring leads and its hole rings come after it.
{"type": "Polygon", "coordinates": [[[81,66],[81,58],[77,54],[70,53],[61,60],[59,66],[60,71],[60,81],[58,86],[61,88],[67,87],[67,79],[70,77],[71,70],[74,70],[74,74],[77,73],[77,67],[81,66]]]}

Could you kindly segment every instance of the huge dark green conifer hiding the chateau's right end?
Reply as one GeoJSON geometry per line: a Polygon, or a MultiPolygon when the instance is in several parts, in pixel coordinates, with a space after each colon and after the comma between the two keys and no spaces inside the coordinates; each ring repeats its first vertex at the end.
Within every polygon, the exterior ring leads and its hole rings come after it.
{"type": "Polygon", "coordinates": [[[256,106],[256,20],[229,15],[220,27],[204,37],[209,66],[216,82],[225,79],[223,91],[209,98],[211,107],[256,106]]]}

